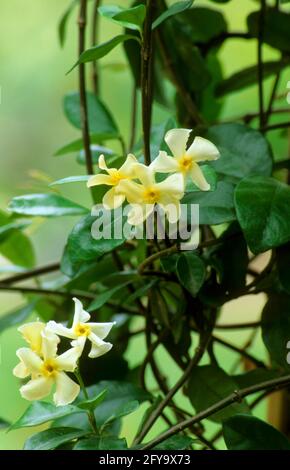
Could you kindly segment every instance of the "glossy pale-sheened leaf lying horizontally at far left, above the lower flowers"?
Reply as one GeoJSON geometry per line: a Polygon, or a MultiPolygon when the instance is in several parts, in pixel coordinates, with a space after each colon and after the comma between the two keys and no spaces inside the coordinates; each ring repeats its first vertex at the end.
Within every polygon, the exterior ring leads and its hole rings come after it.
{"type": "Polygon", "coordinates": [[[83,215],[88,212],[85,207],[54,193],[26,194],[14,197],[9,203],[8,209],[15,214],[42,217],[83,215]]]}

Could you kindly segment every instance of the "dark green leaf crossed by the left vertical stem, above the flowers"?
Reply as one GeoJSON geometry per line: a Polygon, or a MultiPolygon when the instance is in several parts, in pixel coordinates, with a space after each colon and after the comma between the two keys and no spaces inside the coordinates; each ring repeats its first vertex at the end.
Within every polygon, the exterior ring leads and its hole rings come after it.
{"type": "MultiPolygon", "coordinates": [[[[118,138],[119,131],[113,116],[108,111],[104,103],[93,93],[87,92],[88,121],[90,133],[102,138],[118,138]]],[[[82,128],[80,95],[78,92],[71,92],[64,97],[64,113],[69,122],[77,129],[82,128]]]]}

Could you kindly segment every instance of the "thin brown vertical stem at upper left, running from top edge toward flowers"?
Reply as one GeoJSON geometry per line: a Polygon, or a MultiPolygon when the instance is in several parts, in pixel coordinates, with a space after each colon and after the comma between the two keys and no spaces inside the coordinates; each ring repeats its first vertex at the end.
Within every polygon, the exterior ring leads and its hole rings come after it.
{"type": "MultiPolygon", "coordinates": [[[[80,0],[80,12],[79,12],[79,56],[85,50],[85,33],[86,33],[86,22],[87,22],[87,0],[80,0]]],[[[84,152],[86,159],[87,174],[92,175],[94,173],[93,159],[90,146],[90,131],[88,122],[88,108],[87,108],[87,97],[86,97],[86,76],[85,76],[85,64],[79,65],[79,93],[80,93],[80,111],[81,111],[81,124],[82,124],[82,136],[84,144],[84,152]]]]}

